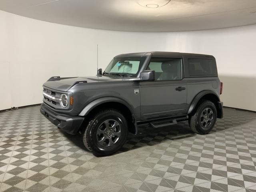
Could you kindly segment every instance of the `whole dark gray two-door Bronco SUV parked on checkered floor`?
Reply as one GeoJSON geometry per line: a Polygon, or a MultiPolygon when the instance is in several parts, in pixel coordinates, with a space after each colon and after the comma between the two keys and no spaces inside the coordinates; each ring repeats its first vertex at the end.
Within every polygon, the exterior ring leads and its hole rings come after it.
{"type": "MultiPolygon", "coordinates": [[[[118,151],[138,125],[188,120],[197,134],[222,118],[222,83],[213,56],[178,52],[121,54],[96,76],[50,78],[40,112],[95,155],[118,151]]],[[[170,127],[171,128],[171,127],[170,127]]]]}

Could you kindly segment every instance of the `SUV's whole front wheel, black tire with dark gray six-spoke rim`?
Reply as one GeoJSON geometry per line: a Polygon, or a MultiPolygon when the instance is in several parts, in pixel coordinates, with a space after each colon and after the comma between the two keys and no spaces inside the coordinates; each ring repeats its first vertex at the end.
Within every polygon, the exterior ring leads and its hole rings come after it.
{"type": "Polygon", "coordinates": [[[127,121],[118,110],[105,109],[90,118],[83,142],[96,156],[117,152],[128,135],[127,121]]]}

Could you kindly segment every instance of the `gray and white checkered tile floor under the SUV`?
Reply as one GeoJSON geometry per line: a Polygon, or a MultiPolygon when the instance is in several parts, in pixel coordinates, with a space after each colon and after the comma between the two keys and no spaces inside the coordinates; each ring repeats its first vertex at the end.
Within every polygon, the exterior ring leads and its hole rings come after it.
{"type": "Polygon", "coordinates": [[[256,113],[224,108],[208,135],[141,127],[95,157],[39,106],[0,113],[0,191],[256,192],[256,113]]]}

